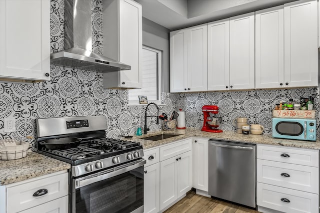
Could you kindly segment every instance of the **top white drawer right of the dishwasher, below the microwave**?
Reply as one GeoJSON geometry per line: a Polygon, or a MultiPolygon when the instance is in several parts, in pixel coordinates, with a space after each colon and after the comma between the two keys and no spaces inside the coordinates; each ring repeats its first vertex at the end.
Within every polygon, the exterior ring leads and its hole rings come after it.
{"type": "Polygon", "coordinates": [[[256,145],[256,158],[283,163],[318,167],[318,150],[256,145]]]}

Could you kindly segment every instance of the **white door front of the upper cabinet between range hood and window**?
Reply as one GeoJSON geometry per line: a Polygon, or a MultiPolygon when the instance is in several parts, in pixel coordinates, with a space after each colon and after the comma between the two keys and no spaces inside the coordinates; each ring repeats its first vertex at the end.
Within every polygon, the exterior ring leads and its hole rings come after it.
{"type": "Polygon", "coordinates": [[[120,86],[125,88],[142,87],[142,9],[133,0],[119,1],[120,21],[120,62],[129,64],[130,70],[121,70],[120,86]],[[123,84],[124,83],[124,84],[123,84]]]}

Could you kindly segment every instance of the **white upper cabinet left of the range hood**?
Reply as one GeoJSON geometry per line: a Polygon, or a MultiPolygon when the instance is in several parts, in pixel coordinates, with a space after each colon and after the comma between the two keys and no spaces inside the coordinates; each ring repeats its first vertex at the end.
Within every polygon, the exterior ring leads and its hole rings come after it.
{"type": "Polygon", "coordinates": [[[50,0],[0,0],[0,80],[50,79],[50,0]]]}

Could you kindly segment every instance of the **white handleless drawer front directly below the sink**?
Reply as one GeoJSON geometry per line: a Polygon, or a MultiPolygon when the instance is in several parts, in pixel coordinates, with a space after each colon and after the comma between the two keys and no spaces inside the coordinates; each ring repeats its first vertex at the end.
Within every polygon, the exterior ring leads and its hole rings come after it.
{"type": "Polygon", "coordinates": [[[191,147],[192,147],[191,138],[160,147],[160,161],[164,161],[176,155],[180,155],[182,153],[190,151],[191,147]]]}

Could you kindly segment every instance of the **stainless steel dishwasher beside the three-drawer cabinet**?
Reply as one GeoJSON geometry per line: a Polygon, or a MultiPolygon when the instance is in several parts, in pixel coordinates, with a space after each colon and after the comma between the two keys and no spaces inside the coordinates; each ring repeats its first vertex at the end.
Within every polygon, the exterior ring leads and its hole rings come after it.
{"type": "Polygon", "coordinates": [[[255,205],[255,144],[209,140],[209,195],[255,205]]]}

